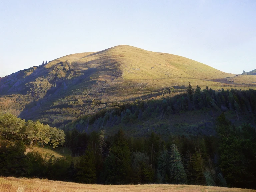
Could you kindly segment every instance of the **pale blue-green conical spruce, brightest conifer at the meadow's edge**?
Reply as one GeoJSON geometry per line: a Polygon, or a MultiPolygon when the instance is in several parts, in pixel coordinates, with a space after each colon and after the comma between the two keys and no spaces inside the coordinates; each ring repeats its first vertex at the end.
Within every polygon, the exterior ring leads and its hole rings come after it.
{"type": "Polygon", "coordinates": [[[176,145],[171,146],[170,161],[171,179],[174,184],[186,184],[187,174],[181,162],[181,155],[176,145]]]}

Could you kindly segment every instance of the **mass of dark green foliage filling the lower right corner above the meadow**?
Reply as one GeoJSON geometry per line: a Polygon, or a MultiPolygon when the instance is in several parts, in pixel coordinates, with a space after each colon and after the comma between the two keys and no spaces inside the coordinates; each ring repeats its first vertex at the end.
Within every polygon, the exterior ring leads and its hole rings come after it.
{"type": "Polygon", "coordinates": [[[251,172],[255,166],[256,157],[255,129],[247,124],[235,127],[222,114],[218,118],[218,133],[220,136],[219,167],[227,183],[230,186],[241,187],[252,185],[250,181],[256,180],[255,171],[251,172]]]}

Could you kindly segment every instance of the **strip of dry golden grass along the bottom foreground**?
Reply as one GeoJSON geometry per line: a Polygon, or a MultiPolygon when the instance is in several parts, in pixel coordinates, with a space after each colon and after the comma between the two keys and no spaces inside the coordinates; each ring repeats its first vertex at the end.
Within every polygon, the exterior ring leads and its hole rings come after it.
{"type": "Polygon", "coordinates": [[[0,177],[1,192],[255,192],[256,190],[198,185],[97,185],[45,179],[0,177]]]}

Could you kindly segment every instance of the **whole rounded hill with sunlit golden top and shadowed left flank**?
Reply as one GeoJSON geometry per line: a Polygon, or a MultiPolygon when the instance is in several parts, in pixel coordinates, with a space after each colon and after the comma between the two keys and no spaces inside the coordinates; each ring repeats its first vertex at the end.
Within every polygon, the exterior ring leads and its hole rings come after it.
{"type": "Polygon", "coordinates": [[[0,110],[63,127],[116,103],[193,86],[248,89],[254,76],[235,77],[197,61],[120,45],[67,55],[0,79],[0,110]]]}

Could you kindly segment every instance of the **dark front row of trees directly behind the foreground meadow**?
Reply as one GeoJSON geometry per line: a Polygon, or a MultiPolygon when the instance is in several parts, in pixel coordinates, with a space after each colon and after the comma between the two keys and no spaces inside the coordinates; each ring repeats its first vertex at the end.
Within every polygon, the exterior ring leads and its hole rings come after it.
{"type": "Polygon", "coordinates": [[[99,184],[172,183],[254,188],[256,132],[236,127],[224,114],[217,118],[217,136],[128,137],[122,130],[105,137],[104,130],[69,131],[72,156],[26,155],[22,140],[0,147],[0,174],[99,184]],[[79,151],[79,156],[77,155],[79,151]]]}

